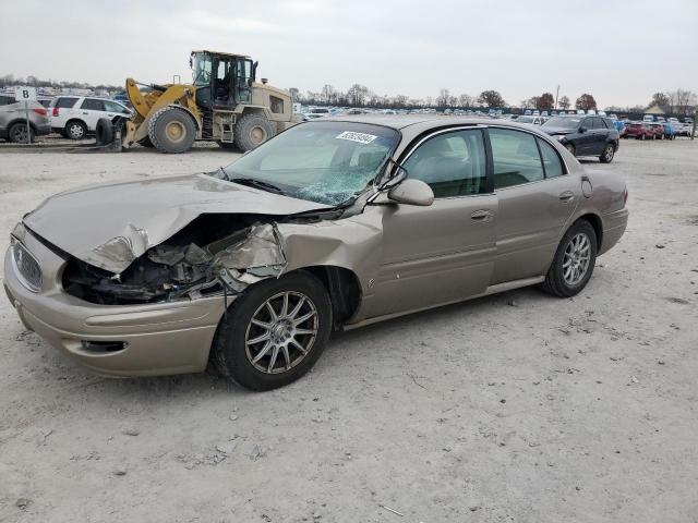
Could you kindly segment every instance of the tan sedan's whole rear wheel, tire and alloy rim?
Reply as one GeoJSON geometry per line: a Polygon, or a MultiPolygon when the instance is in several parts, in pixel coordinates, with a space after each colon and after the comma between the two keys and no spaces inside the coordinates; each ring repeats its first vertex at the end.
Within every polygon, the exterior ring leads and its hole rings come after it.
{"type": "Polygon", "coordinates": [[[554,296],[574,296],[587,285],[595,262],[597,232],[587,220],[579,220],[559,242],[541,288],[554,296]]]}

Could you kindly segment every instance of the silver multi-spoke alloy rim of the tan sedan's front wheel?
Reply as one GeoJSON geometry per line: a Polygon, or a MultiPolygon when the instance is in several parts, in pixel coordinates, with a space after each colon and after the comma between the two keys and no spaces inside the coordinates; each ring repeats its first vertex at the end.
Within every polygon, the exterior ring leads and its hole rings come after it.
{"type": "Polygon", "coordinates": [[[317,308],[310,297],[296,291],[275,294],[255,311],[248,325],[248,360],[262,373],[285,373],[310,353],[318,328],[317,308]]]}

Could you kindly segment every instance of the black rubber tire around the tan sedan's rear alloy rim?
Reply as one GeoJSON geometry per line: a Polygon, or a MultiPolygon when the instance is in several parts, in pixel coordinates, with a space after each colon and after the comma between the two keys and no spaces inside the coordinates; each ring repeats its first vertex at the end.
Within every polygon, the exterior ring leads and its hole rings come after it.
{"type": "MultiPolygon", "coordinates": [[[[574,248],[573,248],[574,252],[574,248]]],[[[577,220],[567,230],[565,235],[557,246],[553,263],[547,270],[545,281],[541,283],[541,289],[553,296],[569,297],[579,293],[586,285],[591,275],[593,273],[593,267],[597,262],[597,232],[591,223],[587,220],[577,220]],[[585,235],[589,242],[589,262],[585,269],[583,275],[579,281],[568,281],[565,278],[566,252],[570,247],[571,242],[578,235],[585,235]]]]}

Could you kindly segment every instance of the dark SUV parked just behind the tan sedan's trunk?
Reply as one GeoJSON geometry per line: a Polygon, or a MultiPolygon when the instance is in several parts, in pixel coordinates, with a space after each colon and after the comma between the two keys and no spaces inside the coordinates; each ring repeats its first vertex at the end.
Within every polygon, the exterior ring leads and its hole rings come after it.
{"type": "Polygon", "coordinates": [[[602,163],[613,160],[618,150],[619,134],[613,121],[605,117],[578,114],[554,117],[542,126],[575,156],[598,156],[602,163]]]}

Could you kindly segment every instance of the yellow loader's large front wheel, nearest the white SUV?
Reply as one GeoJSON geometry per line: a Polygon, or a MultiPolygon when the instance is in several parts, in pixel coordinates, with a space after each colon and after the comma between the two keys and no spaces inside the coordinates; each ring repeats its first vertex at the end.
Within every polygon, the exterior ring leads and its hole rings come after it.
{"type": "Polygon", "coordinates": [[[164,107],[151,118],[148,137],[160,153],[185,153],[196,139],[196,123],[183,109],[164,107]]]}

